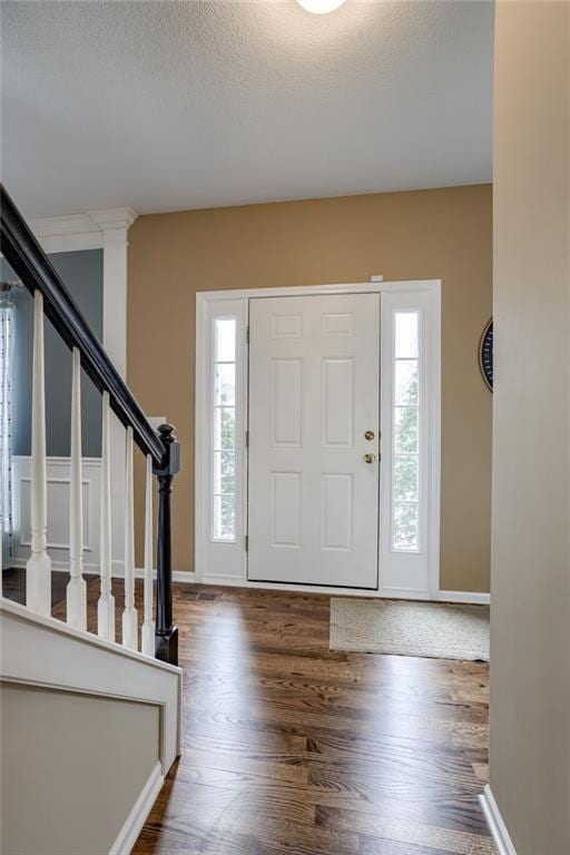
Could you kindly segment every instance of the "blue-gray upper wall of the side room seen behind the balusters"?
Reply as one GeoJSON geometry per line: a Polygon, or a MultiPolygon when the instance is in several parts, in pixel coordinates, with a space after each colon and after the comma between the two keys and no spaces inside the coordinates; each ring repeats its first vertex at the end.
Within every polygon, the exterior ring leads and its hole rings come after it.
{"type": "MultiPolygon", "coordinates": [[[[102,249],[56,253],[50,259],[95,334],[102,341],[102,249]]],[[[16,279],[6,261],[2,279],[16,279]]],[[[31,357],[33,301],[13,289],[14,374],[12,452],[31,452],[31,357]]],[[[49,321],[45,325],[47,453],[68,456],[70,451],[71,353],[49,321]]],[[[101,453],[101,397],[90,380],[81,380],[83,456],[101,453]]]]}

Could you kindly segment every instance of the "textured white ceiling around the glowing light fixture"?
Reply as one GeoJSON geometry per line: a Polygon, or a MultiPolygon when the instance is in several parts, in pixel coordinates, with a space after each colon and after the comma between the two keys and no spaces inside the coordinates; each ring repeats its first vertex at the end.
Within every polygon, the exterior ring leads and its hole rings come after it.
{"type": "Polygon", "coordinates": [[[29,216],[491,179],[491,2],[3,2],[2,177],[29,216]]]}

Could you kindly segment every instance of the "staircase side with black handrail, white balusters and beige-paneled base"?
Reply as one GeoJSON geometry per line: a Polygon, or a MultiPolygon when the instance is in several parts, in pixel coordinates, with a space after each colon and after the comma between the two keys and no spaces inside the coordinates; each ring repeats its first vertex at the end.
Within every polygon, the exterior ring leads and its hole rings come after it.
{"type": "Polygon", "coordinates": [[[10,196],[0,189],[1,249],[33,298],[31,553],[26,606],[2,597],[4,855],[128,853],[180,751],[181,671],[173,621],[170,497],[174,428],[156,432],[82,317],[10,196]],[[67,622],[51,617],[43,324],[71,351],[67,622]],[[83,578],[81,385],[102,397],[100,578],[96,625],[83,578]],[[125,607],[111,579],[111,419],[125,436],[125,607]],[[134,455],[146,461],[142,613],[135,600],[134,455]],[[153,523],[154,479],[158,524],[153,523]],[[154,602],[153,548],[157,540],[154,602]],[[155,611],[156,606],[156,611],[155,611]],[[118,625],[118,631],[116,627],[118,625]]]}

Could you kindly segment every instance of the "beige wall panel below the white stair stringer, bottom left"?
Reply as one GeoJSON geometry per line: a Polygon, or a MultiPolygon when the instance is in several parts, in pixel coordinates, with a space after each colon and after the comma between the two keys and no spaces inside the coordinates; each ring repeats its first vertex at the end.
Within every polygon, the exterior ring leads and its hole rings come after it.
{"type": "Polygon", "coordinates": [[[2,855],[109,852],[158,740],[157,706],[2,684],[2,855]]]}

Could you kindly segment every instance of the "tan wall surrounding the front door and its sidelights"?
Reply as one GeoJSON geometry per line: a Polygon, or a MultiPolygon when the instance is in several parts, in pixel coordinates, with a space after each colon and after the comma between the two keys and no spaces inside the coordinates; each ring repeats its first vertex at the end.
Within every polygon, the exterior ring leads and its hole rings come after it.
{"type": "MultiPolygon", "coordinates": [[[[478,344],[491,315],[491,204],[483,185],[137,219],[129,233],[128,380],[146,412],[166,414],[181,440],[177,570],[194,567],[196,292],[383,274],[443,281],[441,584],[489,590],[491,395],[478,344]]],[[[139,522],[141,511],[138,492],[139,522]]]]}

